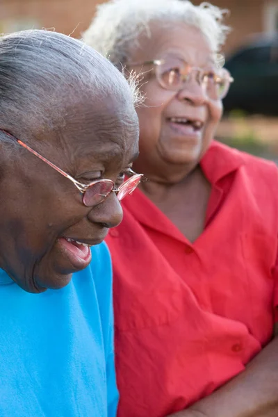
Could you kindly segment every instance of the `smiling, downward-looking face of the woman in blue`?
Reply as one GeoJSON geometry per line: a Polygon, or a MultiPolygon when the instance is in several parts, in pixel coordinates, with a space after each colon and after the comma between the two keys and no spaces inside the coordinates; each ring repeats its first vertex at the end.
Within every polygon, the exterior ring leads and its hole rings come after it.
{"type": "MultiPolygon", "coordinates": [[[[138,120],[131,102],[121,97],[101,102],[86,97],[67,113],[62,130],[39,140],[20,139],[81,183],[104,178],[117,187],[138,154],[138,120]]],[[[120,223],[120,202],[111,193],[101,204],[86,207],[69,179],[26,149],[17,149],[12,160],[5,158],[5,146],[1,268],[29,292],[61,288],[90,263],[87,245],[100,243],[108,228],[120,223]]]]}

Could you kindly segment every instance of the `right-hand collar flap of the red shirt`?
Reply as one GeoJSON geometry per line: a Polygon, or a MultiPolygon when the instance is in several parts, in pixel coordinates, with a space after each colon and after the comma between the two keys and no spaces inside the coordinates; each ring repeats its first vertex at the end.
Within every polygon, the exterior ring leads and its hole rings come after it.
{"type": "Polygon", "coordinates": [[[211,184],[238,170],[244,163],[241,152],[216,141],[211,143],[200,161],[202,171],[211,184]]]}

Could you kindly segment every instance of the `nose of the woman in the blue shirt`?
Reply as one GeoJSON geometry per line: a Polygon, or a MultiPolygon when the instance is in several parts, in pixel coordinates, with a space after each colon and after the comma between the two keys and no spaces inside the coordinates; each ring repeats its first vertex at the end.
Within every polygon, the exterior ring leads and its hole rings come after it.
{"type": "Polygon", "coordinates": [[[101,227],[116,227],[122,222],[122,206],[115,193],[111,193],[101,204],[92,207],[88,219],[101,227]]]}

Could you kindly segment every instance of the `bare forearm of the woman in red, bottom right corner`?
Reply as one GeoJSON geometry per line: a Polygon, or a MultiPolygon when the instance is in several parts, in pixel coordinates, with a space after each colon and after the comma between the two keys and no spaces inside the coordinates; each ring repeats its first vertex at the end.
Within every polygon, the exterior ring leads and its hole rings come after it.
{"type": "MultiPolygon", "coordinates": [[[[277,417],[278,326],[275,338],[243,373],[172,417],[277,417]]],[[[170,416],[169,416],[170,417],[170,416]]]]}

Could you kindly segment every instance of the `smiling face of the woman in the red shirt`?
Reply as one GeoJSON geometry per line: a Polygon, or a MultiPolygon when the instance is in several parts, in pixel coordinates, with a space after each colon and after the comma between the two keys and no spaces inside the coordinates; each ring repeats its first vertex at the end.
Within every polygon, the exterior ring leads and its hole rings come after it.
{"type": "MultiPolygon", "coordinates": [[[[140,48],[129,61],[142,63],[176,56],[192,67],[211,71],[213,51],[204,35],[194,27],[175,24],[152,26],[152,38],[142,37],[140,48]]],[[[142,92],[145,106],[138,108],[140,156],[134,167],[149,179],[181,181],[208,149],[222,115],[220,99],[208,99],[194,76],[178,92],[166,90],[157,81],[154,66],[130,66],[145,72],[142,92]]]]}

